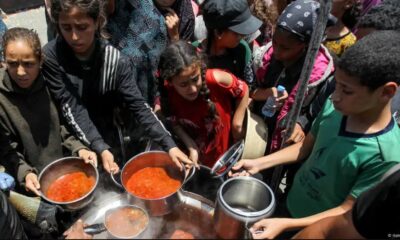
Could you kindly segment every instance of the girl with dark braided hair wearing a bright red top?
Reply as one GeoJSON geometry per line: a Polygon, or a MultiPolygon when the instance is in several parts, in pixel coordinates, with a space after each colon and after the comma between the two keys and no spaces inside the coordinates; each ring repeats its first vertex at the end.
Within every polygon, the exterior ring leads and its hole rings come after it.
{"type": "Polygon", "coordinates": [[[188,148],[189,158],[212,167],[228,150],[230,133],[233,140],[243,136],[246,83],[224,70],[207,69],[196,48],[183,41],[161,55],[160,74],[162,112],[188,148]]]}

